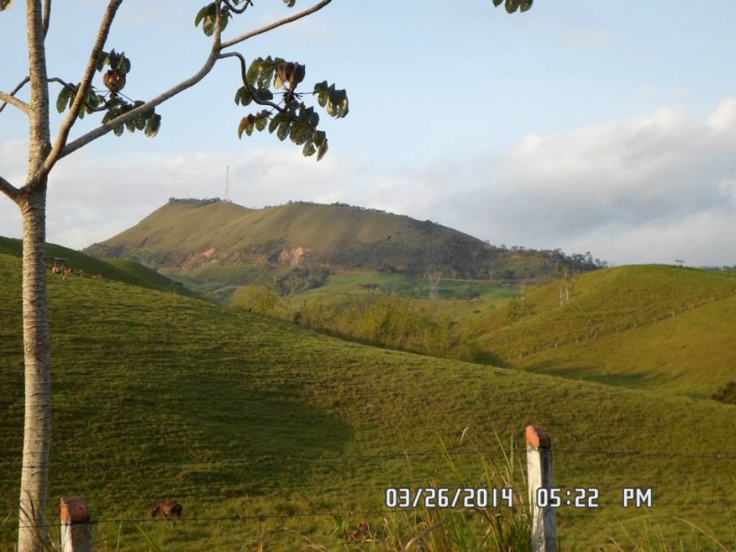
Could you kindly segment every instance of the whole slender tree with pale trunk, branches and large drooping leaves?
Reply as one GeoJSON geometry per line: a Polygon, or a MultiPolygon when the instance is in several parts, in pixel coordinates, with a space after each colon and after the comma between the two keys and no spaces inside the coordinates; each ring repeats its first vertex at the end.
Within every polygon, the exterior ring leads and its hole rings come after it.
{"type": "MultiPolygon", "coordinates": [[[[92,141],[112,132],[121,136],[143,131],[155,136],[161,126],[161,116],[155,112],[164,101],[201,82],[215,64],[232,58],[239,62],[240,87],[235,92],[236,103],[243,107],[255,104],[260,108],[241,118],[238,134],[250,136],[254,130],[276,133],[280,140],[287,137],[302,146],[306,156],[317,154],[318,161],[328,151],[327,136],[319,129],[320,117],[314,107],[302,98],[316,97],[320,108],[334,118],[348,112],[345,90],[327,81],[317,83],[309,92],[297,92],[305,67],[280,57],[257,58],[247,64],[245,57],[232,48],[260,34],[295,22],[319,12],[332,0],[320,0],[310,8],[250,31],[232,39],[224,39],[223,31],[232,18],[253,9],[253,0],[215,0],[196,14],[195,25],[201,26],[212,45],[204,64],[188,79],[148,101],[132,101],[122,92],[131,69],[131,61],[122,52],[106,50],[110,29],[115,22],[122,0],[109,0],[92,45],[81,81],[50,76],[47,67],[46,39],[51,22],[51,0],[27,0],[26,26],[29,66],[25,76],[10,92],[0,83],[0,112],[7,105],[21,110],[29,119],[29,156],[26,180],[14,186],[0,174],[0,191],[21,210],[23,224],[22,255],[22,318],[25,367],[25,422],[23,429],[23,460],[19,513],[18,549],[39,551],[46,539],[44,511],[47,503],[48,457],[51,427],[51,357],[46,296],[46,197],[48,175],[57,162],[92,141]],[[95,77],[104,88],[93,84],[95,77]],[[57,86],[56,108],[66,112],[52,139],[49,110],[51,86],[57,86]],[[28,86],[30,98],[19,94],[28,86]],[[85,115],[101,114],[101,122],[92,130],[70,140],[74,124],[85,115]]],[[[294,7],[296,0],[284,0],[294,7]]],[[[497,7],[504,0],[493,0],[497,7]]],[[[509,13],[526,11],[532,0],[505,0],[509,13]]],[[[12,7],[13,0],[0,0],[0,12],[12,7]]]]}

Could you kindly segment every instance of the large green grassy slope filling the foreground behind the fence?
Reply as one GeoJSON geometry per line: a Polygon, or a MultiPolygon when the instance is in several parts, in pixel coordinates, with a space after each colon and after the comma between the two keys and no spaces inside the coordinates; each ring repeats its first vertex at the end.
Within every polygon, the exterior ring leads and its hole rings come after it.
{"type": "MultiPolygon", "coordinates": [[[[19,289],[20,259],[0,254],[2,549],[21,460],[19,289]]],[[[479,482],[475,453],[503,463],[495,432],[528,424],[552,435],[559,486],[600,489],[600,508],[557,512],[563,549],[634,549],[660,531],[714,548],[672,516],[736,547],[734,407],[359,346],[111,278],[50,278],[48,292],[48,515],[84,495],[95,549],[148,549],[136,523],[167,550],[345,549],[331,514],[381,526],[387,486],[457,486],[441,440],[479,482]],[[653,488],[654,508],[623,508],[623,486],[653,488]],[[145,521],[163,497],[184,521],[145,521]]]]}

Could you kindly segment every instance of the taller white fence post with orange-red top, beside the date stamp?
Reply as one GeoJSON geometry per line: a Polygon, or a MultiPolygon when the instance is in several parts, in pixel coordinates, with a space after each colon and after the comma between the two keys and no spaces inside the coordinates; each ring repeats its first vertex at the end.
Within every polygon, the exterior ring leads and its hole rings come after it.
{"type": "Polygon", "coordinates": [[[532,552],[557,551],[557,521],[549,489],[552,488],[552,440],[539,425],[527,425],[527,477],[531,508],[532,552]],[[539,500],[539,489],[542,499],[539,500]],[[543,505],[539,506],[539,502],[543,505]]]}

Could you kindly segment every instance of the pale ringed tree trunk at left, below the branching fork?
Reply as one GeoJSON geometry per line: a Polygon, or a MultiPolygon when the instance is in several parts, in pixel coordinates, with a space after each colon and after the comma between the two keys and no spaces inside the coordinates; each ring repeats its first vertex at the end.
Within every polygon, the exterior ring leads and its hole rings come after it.
{"type": "Polygon", "coordinates": [[[46,540],[48,453],[51,448],[51,356],[46,303],[46,182],[19,205],[23,216],[23,351],[25,425],[19,552],[40,552],[46,540]]]}

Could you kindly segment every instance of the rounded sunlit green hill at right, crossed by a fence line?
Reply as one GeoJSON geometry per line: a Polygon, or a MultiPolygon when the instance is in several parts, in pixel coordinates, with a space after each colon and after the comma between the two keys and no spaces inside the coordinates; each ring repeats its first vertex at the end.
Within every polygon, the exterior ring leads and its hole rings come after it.
{"type": "Polygon", "coordinates": [[[618,267],[535,288],[477,323],[507,365],[707,397],[734,379],[736,277],[618,267]],[[560,304],[562,299],[563,304],[560,304]]]}

